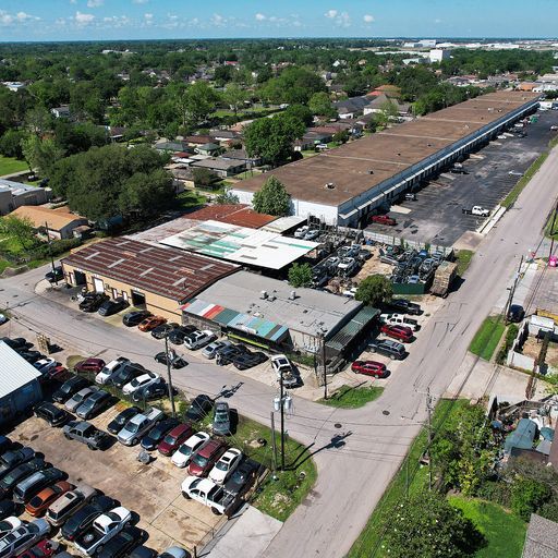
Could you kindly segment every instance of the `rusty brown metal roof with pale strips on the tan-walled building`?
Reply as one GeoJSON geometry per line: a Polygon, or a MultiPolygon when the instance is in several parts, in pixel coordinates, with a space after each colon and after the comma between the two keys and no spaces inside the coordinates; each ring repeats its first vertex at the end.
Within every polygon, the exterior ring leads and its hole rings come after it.
{"type": "Polygon", "coordinates": [[[211,257],[128,238],[89,244],[63,258],[62,264],[179,302],[239,269],[211,257]]]}

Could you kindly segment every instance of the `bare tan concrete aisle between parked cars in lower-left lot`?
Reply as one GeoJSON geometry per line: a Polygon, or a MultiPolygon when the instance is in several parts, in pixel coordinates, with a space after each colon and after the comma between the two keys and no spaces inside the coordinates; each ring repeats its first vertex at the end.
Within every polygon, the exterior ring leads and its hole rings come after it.
{"type": "MultiPolygon", "coordinates": [[[[109,409],[90,422],[105,429],[120,410],[109,409]]],[[[71,483],[89,484],[135,512],[137,526],[148,534],[146,545],[159,553],[171,545],[192,551],[227,521],[183,498],[180,485],[186,474],[169,458],[160,456],[144,465],[136,460],[137,447],[118,442],[106,451],[92,451],[36,417],[21,423],[10,436],[44,453],[46,461],[68,473],[71,483]]]]}

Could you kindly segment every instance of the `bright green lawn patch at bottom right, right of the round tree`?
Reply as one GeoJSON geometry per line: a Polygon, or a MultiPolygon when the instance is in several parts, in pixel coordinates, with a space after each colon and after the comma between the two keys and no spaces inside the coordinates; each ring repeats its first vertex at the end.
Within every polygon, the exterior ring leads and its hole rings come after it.
{"type": "Polygon", "coordinates": [[[475,558],[521,557],[527,525],[520,518],[489,501],[462,496],[450,496],[448,499],[486,538],[487,545],[475,553],[475,558]]]}

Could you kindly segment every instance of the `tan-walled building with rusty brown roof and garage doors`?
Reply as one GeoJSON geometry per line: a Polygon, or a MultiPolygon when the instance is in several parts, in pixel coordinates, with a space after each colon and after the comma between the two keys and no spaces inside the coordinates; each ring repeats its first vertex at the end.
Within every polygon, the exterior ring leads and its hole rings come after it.
{"type": "Polygon", "coordinates": [[[72,253],[61,260],[68,284],[83,286],[132,306],[177,322],[181,304],[217,279],[239,269],[199,254],[110,239],[72,253]]]}

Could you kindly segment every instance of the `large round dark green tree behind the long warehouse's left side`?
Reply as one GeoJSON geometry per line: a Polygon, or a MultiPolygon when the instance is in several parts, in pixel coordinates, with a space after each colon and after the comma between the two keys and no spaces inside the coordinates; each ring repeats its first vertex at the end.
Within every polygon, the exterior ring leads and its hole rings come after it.
{"type": "Polygon", "coordinates": [[[293,143],[304,131],[304,123],[290,114],[260,118],[244,132],[246,150],[251,157],[259,156],[274,166],[281,165],[292,156],[293,143]]]}

